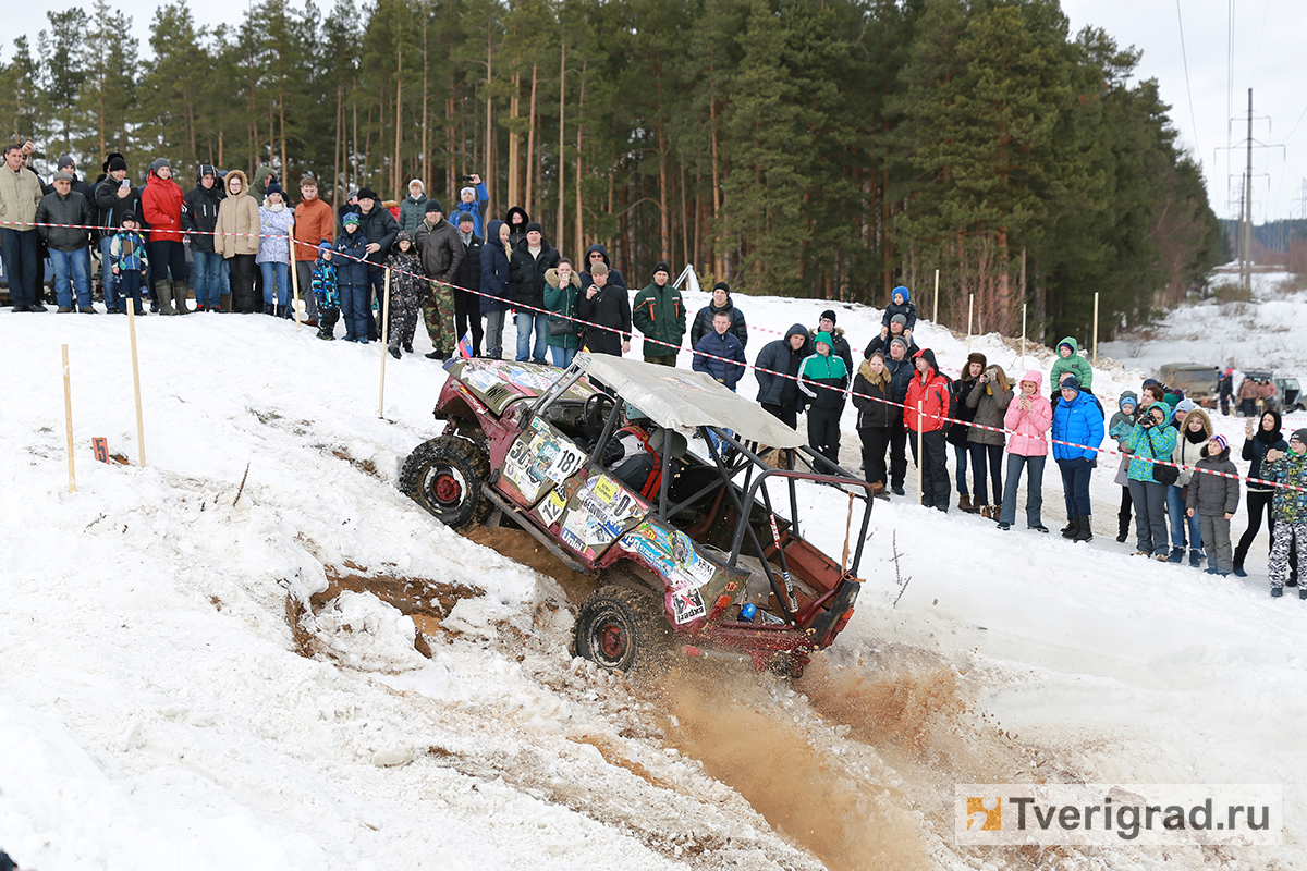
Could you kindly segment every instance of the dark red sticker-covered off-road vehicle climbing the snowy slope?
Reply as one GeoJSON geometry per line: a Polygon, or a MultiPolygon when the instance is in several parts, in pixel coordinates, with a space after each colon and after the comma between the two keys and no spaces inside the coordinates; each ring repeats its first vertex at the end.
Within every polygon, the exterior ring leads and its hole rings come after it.
{"type": "Polygon", "coordinates": [[[605,669],[676,640],[799,676],[853,614],[869,484],[707,375],[586,351],[566,371],[471,359],[450,367],[435,417],[444,431],[405,460],[400,490],[452,528],[507,517],[595,577],[574,644],[605,669]],[[635,479],[612,466],[631,437],[648,452],[635,479]],[[840,559],[800,534],[800,482],[848,492],[847,513],[819,518],[838,524],[840,559]]]}

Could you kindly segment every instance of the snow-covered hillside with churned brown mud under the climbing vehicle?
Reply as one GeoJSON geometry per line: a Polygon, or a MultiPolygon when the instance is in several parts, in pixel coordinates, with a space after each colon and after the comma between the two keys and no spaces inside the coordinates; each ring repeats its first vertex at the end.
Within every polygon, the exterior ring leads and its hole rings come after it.
{"type": "MultiPolygon", "coordinates": [[[[750,359],[833,307],[736,302],[750,359]]],[[[834,307],[857,354],[880,311],[834,307]]],[[[1242,581],[1129,556],[1114,462],[1087,546],[877,503],[856,615],[800,682],[626,680],[569,658],[537,548],[477,545],[396,490],[439,431],[434,363],[388,360],[379,417],[378,345],[261,316],[137,330],[144,469],[127,320],[0,311],[0,849],[24,868],[1307,867],[1307,602],[1269,599],[1264,539],[1242,581]],[[94,462],[94,436],[131,465],[94,462]],[[1036,778],[1282,784],[1285,845],[955,846],[954,784],[1036,778]]],[[[931,324],[918,341],[966,356],[931,324]]],[[[972,346],[1022,371],[997,336],[972,346]]],[[[1138,388],[1100,362],[1099,396],[1138,388]]],[[[833,522],[808,529],[838,554],[847,500],[816,490],[833,522]]],[[[1044,491],[1060,525],[1052,470],[1044,491]]]]}

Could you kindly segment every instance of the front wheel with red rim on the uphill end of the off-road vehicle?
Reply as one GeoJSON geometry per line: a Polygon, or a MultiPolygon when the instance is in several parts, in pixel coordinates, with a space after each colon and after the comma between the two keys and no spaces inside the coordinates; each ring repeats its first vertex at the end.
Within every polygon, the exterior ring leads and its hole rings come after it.
{"type": "Polygon", "coordinates": [[[490,481],[490,460],[477,445],[456,436],[423,441],[400,469],[400,492],[446,526],[463,529],[485,521],[490,500],[481,486],[490,481]]]}

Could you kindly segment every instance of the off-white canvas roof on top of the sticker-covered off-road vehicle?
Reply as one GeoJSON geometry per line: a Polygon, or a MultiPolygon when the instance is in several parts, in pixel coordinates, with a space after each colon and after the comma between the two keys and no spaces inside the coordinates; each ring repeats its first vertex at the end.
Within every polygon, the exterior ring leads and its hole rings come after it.
{"type": "Polygon", "coordinates": [[[582,351],[574,363],[659,426],[693,435],[701,426],[727,427],[737,437],[771,448],[797,448],[808,440],[791,427],[732,393],[703,372],[655,366],[637,359],[582,351]]]}

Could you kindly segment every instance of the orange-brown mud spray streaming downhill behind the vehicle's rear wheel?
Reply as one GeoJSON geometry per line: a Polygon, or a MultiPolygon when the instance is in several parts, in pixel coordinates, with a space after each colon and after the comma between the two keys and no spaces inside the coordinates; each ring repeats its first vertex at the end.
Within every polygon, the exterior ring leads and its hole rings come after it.
{"type": "Polygon", "coordinates": [[[916,814],[877,782],[878,767],[817,747],[793,713],[741,678],[701,666],[668,671],[668,743],[834,871],[933,867],[916,814]]]}

